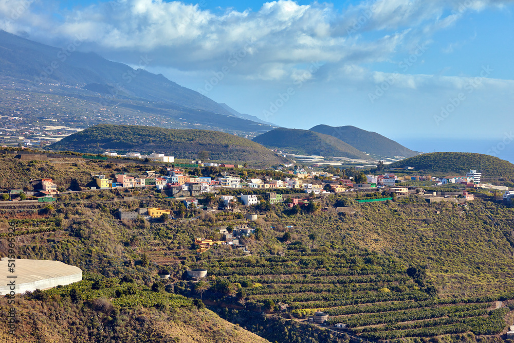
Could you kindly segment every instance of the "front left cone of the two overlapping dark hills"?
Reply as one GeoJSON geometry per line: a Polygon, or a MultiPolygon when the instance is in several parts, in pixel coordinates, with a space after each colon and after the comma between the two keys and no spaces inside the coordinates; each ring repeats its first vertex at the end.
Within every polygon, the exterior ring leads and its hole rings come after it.
{"type": "Polygon", "coordinates": [[[269,148],[284,149],[298,155],[370,159],[370,156],[340,139],[308,130],[275,129],[253,138],[253,141],[269,148]]]}

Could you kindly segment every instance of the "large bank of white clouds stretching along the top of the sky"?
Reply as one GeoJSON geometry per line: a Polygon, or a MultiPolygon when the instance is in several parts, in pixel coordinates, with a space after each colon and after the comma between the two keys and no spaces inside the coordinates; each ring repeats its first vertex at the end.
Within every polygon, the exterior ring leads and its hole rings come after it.
{"type": "Polygon", "coordinates": [[[56,22],[57,9],[45,11],[48,4],[0,0],[0,14],[9,20],[12,11],[25,4],[19,18],[4,22],[6,30],[27,32],[29,38],[57,46],[80,35],[85,37],[82,49],[125,63],[149,55],[155,66],[185,72],[217,70],[244,50],[244,57],[231,65],[231,75],[290,81],[303,64],[313,61],[326,63],[317,75],[325,79],[339,78],[341,70],[345,74],[362,70],[363,64],[389,61],[399,52],[411,53],[417,43],[454,25],[467,11],[510,2],[376,0],[340,12],[326,3],[278,0],[256,11],[214,14],[201,4],[116,0],[63,12],[56,22]]]}

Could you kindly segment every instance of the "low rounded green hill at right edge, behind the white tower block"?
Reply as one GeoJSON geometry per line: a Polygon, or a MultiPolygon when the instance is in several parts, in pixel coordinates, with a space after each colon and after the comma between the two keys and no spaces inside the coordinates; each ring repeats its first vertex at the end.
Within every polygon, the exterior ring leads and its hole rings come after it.
{"type": "Polygon", "coordinates": [[[470,152],[432,152],[403,159],[391,168],[414,167],[427,172],[464,174],[470,169],[484,176],[512,176],[514,165],[498,157],[470,152]]]}

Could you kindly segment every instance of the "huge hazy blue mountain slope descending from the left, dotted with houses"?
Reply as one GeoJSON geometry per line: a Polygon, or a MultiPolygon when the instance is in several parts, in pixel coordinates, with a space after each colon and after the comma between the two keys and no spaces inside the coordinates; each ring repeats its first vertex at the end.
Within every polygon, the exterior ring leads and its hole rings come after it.
{"type": "MultiPolygon", "coordinates": [[[[143,69],[133,69],[128,65],[108,61],[95,53],[76,51],[80,41],[70,44],[65,49],[47,46],[26,40],[0,30],[0,77],[9,78],[3,83],[4,89],[12,87],[15,91],[30,98],[28,108],[43,101],[41,93],[73,97],[90,102],[86,107],[68,107],[78,117],[94,120],[93,123],[108,120],[125,124],[138,123],[144,114],[158,113],[159,118],[151,117],[151,125],[171,128],[199,128],[230,131],[241,135],[255,136],[273,127],[262,122],[253,121],[256,117],[235,115],[232,109],[182,87],[162,75],[155,75],[143,69]],[[7,87],[6,87],[7,86],[7,87]],[[134,113],[130,106],[138,106],[134,113]],[[95,116],[95,111],[105,113],[103,118],[95,116]],[[171,119],[172,121],[170,122],[171,119]]],[[[141,67],[151,65],[151,57],[142,56],[138,64],[141,67]]],[[[0,80],[2,80],[0,79],[0,80]]],[[[8,103],[0,103],[0,112],[9,112],[8,103]]],[[[61,107],[62,108],[62,107],[61,107]]],[[[31,118],[30,110],[27,118],[31,118]]],[[[54,119],[62,120],[55,110],[32,111],[54,119]]],[[[101,116],[103,113],[101,114],[101,116]]],[[[80,124],[82,119],[65,119],[65,125],[80,124]]],[[[146,123],[144,123],[146,124],[146,123]]],[[[80,127],[80,126],[79,126],[80,127]]]]}

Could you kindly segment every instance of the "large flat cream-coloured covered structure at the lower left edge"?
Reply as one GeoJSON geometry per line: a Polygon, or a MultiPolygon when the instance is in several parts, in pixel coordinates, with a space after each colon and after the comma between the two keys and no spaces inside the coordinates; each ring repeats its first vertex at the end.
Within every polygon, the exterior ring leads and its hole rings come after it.
{"type": "Polygon", "coordinates": [[[6,280],[0,285],[0,296],[12,291],[7,285],[11,280],[15,283],[15,294],[47,290],[82,280],[80,268],[59,261],[14,259],[14,262],[9,263],[8,260],[9,258],[3,257],[0,261],[0,278],[6,280]],[[9,273],[8,263],[14,263],[14,273],[9,273]],[[8,278],[10,276],[16,278],[8,278]]]}

